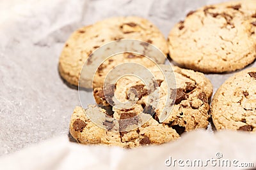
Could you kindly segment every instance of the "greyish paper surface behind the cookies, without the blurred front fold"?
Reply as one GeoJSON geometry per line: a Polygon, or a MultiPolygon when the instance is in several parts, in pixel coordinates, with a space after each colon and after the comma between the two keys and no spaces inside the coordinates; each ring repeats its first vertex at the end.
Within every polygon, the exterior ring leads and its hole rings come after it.
{"type": "MultiPolygon", "coordinates": [[[[68,134],[70,115],[79,98],[76,88],[61,80],[58,57],[77,28],[102,18],[138,15],[167,36],[186,13],[217,2],[221,1],[1,1],[0,155],[68,134]]],[[[232,74],[207,76],[215,91],[232,74]]]]}

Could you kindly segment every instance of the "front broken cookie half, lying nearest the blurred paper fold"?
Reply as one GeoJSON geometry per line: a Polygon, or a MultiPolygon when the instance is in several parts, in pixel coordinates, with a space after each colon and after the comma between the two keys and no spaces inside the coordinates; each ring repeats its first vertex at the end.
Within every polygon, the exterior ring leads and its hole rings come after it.
{"type": "MultiPolygon", "coordinates": [[[[136,108],[136,107],[134,107],[136,108]]],[[[138,108],[137,108],[138,109],[138,108]]],[[[83,110],[76,107],[70,121],[70,134],[82,144],[97,144],[109,146],[121,146],[124,148],[134,148],[142,145],[161,144],[173,141],[179,138],[179,134],[171,127],[159,124],[150,115],[141,113],[136,121],[132,121],[134,115],[129,112],[122,112],[120,115],[114,113],[114,117],[119,118],[113,122],[108,121],[105,110],[96,105],[89,105],[88,109],[83,110]],[[103,113],[103,117],[99,118],[97,124],[93,123],[87,115],[103,113]],[[127,128],[129,125],[140,124],[143,119],[147,119],[147,123],[141,127],[133,129],[129,132],[119,132],[119,128],[127,128]],[[127,120],[124,122],[122,120],[127,120]]],[[[125,130],[125,129],[123,129],[125,130]]]]}

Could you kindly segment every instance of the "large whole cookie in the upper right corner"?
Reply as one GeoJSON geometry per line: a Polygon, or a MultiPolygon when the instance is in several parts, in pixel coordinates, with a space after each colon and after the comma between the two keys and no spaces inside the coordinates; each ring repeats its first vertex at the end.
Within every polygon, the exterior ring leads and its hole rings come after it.
{"type": "Polygon", "coordinates": [[[168,36],[170,57],[204,73],[242,69],[256,58],[255,0],[227,2],[190,11],[168,36]]]}

